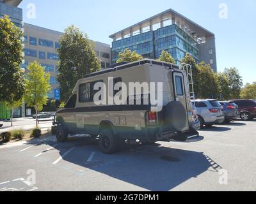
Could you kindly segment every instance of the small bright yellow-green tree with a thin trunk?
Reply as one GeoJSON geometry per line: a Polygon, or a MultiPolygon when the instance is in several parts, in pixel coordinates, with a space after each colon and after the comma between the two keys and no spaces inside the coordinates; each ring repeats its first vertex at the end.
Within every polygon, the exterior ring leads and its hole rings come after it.
{"type": "Polygon", "coordinates": [[[37,113],[47,104],[47,93],[51,90],[49,84],[50,73],[45,72],[38,62],[32,62],[28,66],[28,74],[25,80],[25,95],[26,103],[36,110],[36,128],[38,127],[37,113]]]}

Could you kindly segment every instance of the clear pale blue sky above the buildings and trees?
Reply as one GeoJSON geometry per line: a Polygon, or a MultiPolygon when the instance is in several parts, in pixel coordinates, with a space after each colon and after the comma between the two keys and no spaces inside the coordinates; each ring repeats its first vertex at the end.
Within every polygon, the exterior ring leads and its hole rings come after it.
{"type": "Polygon", "coordinates": [[[63,32],[76,25],[92,40],[111,44],[110,34],[172,8],[216,35],[218,71],[235,66],[244,84],[256,81],[255,0],[23,0],[24,22],[63,32]],[[36,6],[28,18],[27,6],[36,6]],[[227,4],[228,18],[220,18],[220,4],[227,4]]]}

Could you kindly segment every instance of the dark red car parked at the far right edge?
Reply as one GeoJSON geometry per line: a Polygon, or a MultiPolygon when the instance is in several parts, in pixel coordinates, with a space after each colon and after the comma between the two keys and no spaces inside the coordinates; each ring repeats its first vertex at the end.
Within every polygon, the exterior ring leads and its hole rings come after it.
{"type": "Polygon", "coordinates": [[[256,117],[256,102],[253,100],[230,100],[236,103],[242,120],[252,120],[256,117]]]}

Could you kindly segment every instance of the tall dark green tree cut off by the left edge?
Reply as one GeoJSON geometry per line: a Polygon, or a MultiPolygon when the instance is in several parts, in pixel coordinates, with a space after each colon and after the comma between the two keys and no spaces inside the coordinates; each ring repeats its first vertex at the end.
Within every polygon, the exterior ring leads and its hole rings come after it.
{"type": "Polygon", "coordinates": [[[0,101],[13,104],[24,94],[22,62],[22,33],[10,18],[0,18],[0,101]]]}

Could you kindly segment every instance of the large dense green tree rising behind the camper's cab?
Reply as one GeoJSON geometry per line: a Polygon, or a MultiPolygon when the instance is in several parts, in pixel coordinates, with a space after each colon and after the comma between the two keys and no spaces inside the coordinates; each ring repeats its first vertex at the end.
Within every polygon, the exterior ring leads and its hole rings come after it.
{"type": "Polygon", "coordinates": [[[94,43],[88,39],[87,34],[74,25],[65,29],[65,33],[60,38],[60,48],[58,48],[60,57],[58,82],[62,101],[70,98],[77,80],[100,70],[100,60],[94,47],[94,43]]]}

